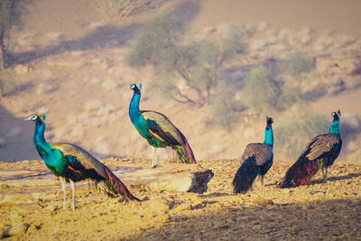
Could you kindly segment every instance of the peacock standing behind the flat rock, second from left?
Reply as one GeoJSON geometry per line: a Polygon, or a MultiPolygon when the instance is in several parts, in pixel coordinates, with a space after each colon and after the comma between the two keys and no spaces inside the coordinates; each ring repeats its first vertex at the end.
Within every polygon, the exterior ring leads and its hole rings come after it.
{"type": "Polygon", "coordinates": [[[174,126],[167,116],[151,110],[139,110],[142,84],[139,88],[131,84],[134,94],[129,105],[129,116],[136,130],[153,147],[152,167],[157,167],[156,148],[170,146],[180,162],[197,163],[184,134],[174,126]]]}

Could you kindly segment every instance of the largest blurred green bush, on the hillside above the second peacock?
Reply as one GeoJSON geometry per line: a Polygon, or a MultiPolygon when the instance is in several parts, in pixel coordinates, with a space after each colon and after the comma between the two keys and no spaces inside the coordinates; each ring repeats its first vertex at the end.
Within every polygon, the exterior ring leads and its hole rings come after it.
{"type": "Polygon", "coordinates": [[[153,89],[162,97],[197,107],[207,106],[216,93],[224,62],[245,51],[241,38],[232,32],[222,42],[187,42],[180,38],[184,23],[170,15],[155,17],[137,32],[126,62],[133,67],[153,66],[158,79],[153,89]],[[180,88],[179,82],[186,88],[180,88]]]}

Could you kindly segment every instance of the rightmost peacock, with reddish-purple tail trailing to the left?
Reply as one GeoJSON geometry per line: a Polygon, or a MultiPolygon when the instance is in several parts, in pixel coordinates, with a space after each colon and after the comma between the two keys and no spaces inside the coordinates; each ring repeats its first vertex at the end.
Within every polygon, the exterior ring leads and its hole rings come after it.
{"type": "Polygon", "coordinates": [[[286,172],[281,188],[308,185],[311,177],[322,169],[323,181],[327,181],[327,172],[341,152],[342,139],[339,134],[339,116],[341,111],[332,112],[333,121],[329,127],[329,134],[319,134],[306,145],[301,156],[286,172]]]}

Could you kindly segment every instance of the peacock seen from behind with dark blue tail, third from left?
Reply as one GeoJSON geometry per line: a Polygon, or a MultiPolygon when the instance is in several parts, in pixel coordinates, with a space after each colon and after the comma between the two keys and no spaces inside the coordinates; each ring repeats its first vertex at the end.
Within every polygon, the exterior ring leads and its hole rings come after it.
{"type": "Polygon", "coordinates": [[[266,117],[264,143],[247,144],[241,156],[242,165],[236,172],[232,184],[235,193],[245,193],[252,189],[257,175],[261,176],[261,191],[264,189],[264,175],[273,164],[273,118],[266,117]]]}

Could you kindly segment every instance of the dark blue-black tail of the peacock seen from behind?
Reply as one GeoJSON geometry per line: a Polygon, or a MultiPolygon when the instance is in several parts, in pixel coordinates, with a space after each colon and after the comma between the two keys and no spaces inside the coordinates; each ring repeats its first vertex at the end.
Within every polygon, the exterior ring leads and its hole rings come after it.
{"type": "Polygon", "coordinates": [[[235,193],[245,193],[255,181],[255,178],[260,173],[261,168],[257,166],[255,157],[249,157],[236,172],[236,176],[232,181],[233,190],[235,193]]]}

